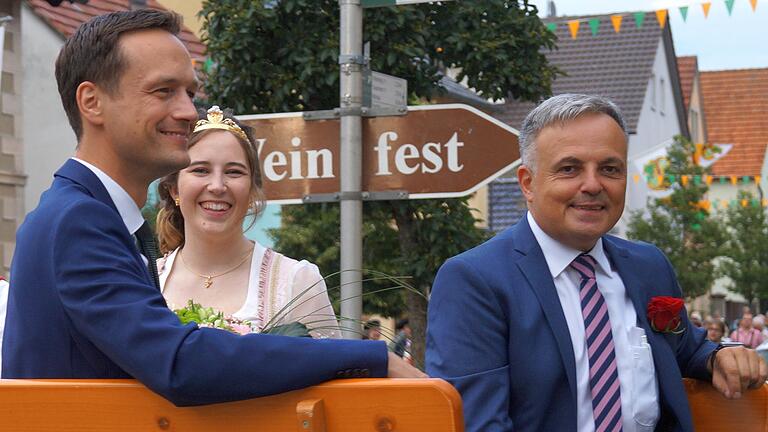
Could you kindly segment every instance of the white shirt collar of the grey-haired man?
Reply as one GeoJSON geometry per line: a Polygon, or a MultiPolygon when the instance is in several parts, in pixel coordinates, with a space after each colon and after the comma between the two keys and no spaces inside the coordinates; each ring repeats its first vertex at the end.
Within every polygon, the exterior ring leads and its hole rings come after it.
{"type": "MultiPolygon", "coordinates": [[[[554,279],[558,277],[563,270],[568,268],[568,266],[571,265],[571,262],[583,252],[570,246],[566,246],[550,237],[549,234],[545,233],[539,224],[536,223],[536,219],[533,218],[531,212],[527,212],[526,217],[528,218],[528,224],[531,227],[531,231],[533,231],[533,236],[536,238],[539,247],[541,247],[541,251],[544,253],[544,259],[547,261],[549,272],[554,279]]],[[[608,256],[605,255],[605,249],[603,249],[602,238],[597,240],[595,246],[592,250],[587,252],[587,254],[597,261],[598,268],[602,270],[606,276],[609,278],[613,277],[610,261],[608,261],[608,256]]]]}

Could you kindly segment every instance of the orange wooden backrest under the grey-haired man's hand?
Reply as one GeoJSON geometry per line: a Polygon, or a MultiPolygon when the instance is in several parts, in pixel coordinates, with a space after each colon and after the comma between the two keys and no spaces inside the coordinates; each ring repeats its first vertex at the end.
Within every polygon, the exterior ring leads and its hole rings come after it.
{"type": "Polygon", "coordinates": [[[684,381],[696,432],[768,432],[768,385],[731,400],[708,383],[684,381]]]}

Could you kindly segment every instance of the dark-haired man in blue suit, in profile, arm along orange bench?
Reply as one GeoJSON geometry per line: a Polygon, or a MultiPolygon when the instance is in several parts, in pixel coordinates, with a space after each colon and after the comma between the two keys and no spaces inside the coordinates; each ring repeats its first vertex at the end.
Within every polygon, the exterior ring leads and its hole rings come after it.
{"type": "Polygon", "coordinates": [[[119,12],[65,42],[56,77],[78,147],[17,233],[3,378],[135,377],[196,405],[424,376],[384,342],[238,336],[168,309],[139,209],[152,180],[189,164],[198,83],[179,26],[168,12],[119,12]]]}

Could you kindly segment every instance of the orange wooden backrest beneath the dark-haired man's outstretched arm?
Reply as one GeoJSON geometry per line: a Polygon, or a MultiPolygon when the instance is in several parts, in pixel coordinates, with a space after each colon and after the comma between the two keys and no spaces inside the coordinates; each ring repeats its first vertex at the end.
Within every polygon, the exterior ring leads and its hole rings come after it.
{"type": "Polygon", "coordinates": [[[350,379],[178,408],[134,380],[0,380],[0,431],[463,432],[439,379],[350,379]]]}

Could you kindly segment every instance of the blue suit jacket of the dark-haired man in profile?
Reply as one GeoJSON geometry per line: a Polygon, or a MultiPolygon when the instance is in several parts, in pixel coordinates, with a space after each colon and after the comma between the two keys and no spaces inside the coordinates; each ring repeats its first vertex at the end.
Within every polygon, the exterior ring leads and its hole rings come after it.
{"type": "Polygon", "coordinates": [[[69,160],[16,237],[3,378],[135,377],[177,405],[387,373],[383,342],[182,325],[99,179],[69,160]]]}

